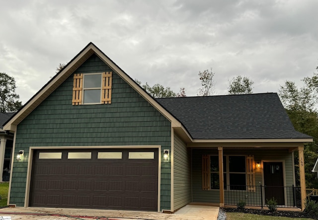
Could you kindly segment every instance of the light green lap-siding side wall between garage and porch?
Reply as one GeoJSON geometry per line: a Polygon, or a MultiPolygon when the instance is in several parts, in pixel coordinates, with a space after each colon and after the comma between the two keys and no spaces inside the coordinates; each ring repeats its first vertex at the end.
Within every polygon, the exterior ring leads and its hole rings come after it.
{"type": "Polygon", "coordinates": [[[177,135],[173,140],[173,209],[177,210],[192,201],[191,149],[177,135]]]}

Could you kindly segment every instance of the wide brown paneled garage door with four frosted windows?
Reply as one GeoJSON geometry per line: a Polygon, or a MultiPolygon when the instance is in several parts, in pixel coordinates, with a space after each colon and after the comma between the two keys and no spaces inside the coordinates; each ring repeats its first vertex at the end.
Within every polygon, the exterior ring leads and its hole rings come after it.
{"type": "Polygon", "coordinates": [[[30,206],[158,209],[158,149],[36,150],[30,206]]]}

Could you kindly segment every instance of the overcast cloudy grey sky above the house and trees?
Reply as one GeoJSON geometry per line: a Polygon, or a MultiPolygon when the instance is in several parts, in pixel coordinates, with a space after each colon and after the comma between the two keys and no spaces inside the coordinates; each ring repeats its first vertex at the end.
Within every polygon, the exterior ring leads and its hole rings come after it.
{"type": "Polygon", "coordinates": [[[245,75],[277,92],[318,66],[318,0],[1,0],[0,72],[24,104],[93,42],[132,78],[187,96],[213,68],[215,95],[245,75]]]}

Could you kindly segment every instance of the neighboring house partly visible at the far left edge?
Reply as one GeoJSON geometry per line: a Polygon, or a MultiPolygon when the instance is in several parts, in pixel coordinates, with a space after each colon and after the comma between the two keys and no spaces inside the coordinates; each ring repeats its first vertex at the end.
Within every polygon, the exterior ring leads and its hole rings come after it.
{"type": "Polygon", "coordinates": [[[10,178],[11,157],[13,146],[13,133],[3,131],[3,123],[14,113],[0,112],[0,176],[1,182],[7,182],[10,178]]]}

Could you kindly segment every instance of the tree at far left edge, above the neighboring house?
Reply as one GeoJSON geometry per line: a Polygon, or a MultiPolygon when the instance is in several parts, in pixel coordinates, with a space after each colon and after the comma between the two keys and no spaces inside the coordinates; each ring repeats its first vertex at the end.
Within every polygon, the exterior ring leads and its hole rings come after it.
{"type": "Polygon", "coordinates": [[[6,73],[0,73],[0,111],[15,112],[21,108],[20,96],[15,93],[15,79],[6,73]]]}

